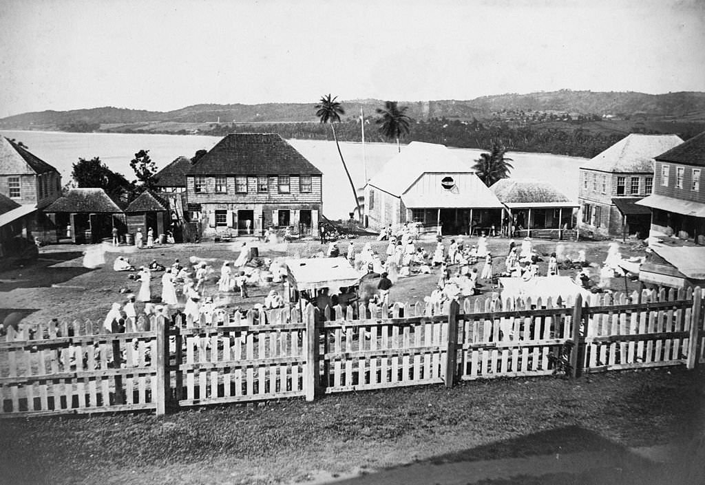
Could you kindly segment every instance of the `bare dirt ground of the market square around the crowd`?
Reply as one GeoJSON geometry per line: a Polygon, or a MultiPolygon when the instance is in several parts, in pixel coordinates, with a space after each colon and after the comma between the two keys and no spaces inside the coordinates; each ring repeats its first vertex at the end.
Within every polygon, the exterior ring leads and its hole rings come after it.
{"type": "MultiPolygon", "coordinates": [[[[450,244],[450,236],[443,240],[446,246],[450,244]]],[[[477,238],[460,238],[464,244],[477,244],[477,238]]],[[[379,252],[383,259],[387,243],[378,242],[375,238],[362,237],[354,240],[356,250],[359,252],[364,243],[371,243],[373,250],[379,252]]],[[[519,241],[517,241],[519,243],[519,241]]],[[[548,265],[548,255],[556,250],[558,241],[534,240],[539,254],[545,254],[544,261],[539,263],[541,274],[546,273],[548,265]]],[[[577,256],[579,250],[585,250],[588,262],[591,263],[592,279],[599,280],[597,274],[601,262],[607,254],[607,242],[560,242],[565,245],[568,255],[577,256]]],[[[327,246],[321,245],[317,241],[305,241],[288,243],[287,245],[267,245],[255,243],[262,258],[286,258],[286,257],[312,257],[318,252],[325,251],[327,246]]],[[[341,251],[347,250],[348,240],[339,242],[341,251]]],[[[420,245],[433,253],[436,241],[434,238],[425,238],[417,241],[420,245]]],[[[505,238],[489,238],[488,247],[492,254],[495,254],[494,269],[501,270],[504,267],[504,257],[508,251],[509,240],[505,238]]],[[[39,260],[24,267],[18,267],[8,271],[0,272],[0,321],[9,312],[21,312],[25,315],[24,322],[27,324],[46,323],[50,319],[57,318],[60,321],[71,321],[73,319],[91,319],[92,321],[102,321],[108,312],[112,302],[124,302],[125,295],[120,290],[129,293],[137,293],[140,283],[128,279],[128,274],[116,272],[112,269],[112,263],[116,257],[123,255],[130,259],[130,262],[139,267],[147,265],[152,259],[157,259],[161,264],[169,265],[175,258],[180,262],[188,262],[192,256],[213,259],[209,262],[213,266],[215,273],[212,274],[206,287],[206,295],[216,295],[216,281],[219,278],[219,271],[224,260],[233,260],[238,256],[240,243],[201,243],[201,244],[177,244],[154,247],[152,249],[135,250],[134,247],[120,246],[109,247],[106,252],[106,264],[97,269],[87,269],[82,266],[83,253],[90,248],[87,245],[50,245],[42,247],[39,260]]],[[[625,257],[642,256],[643,250],[634,250],[634,243],[621,245],[622,253],[625,257]]],[[[430,257],[429,257],[430,259],[430,257]]],[[[484,262],[479,262],[476,266],[478,271],[482,271],[484,262]]],[[[450,266],[453,270],[453,266],[450,266]]],[[[563,271],[561,274],[574,276],[576,271],[563,271]]],[[[161,295],[161,273],[156,273],[152,277],[152,295],[158,301],[161,295]]],[[[434,269],[431,274],[415,274],[407,278],[400,278],[390,293],[390,301],[407,302],[413,305],[417,301],[430,295],[439,279],[439,269],[434,269]]],[[[486,293],[496,290],[489,286],[487,282],[482,282],[482,294],[474,298],[484,298],[486,293]]],[[[272,288],[281,290],[281,283],[274,284],[269,288],[250,288],[247,299],[240,298],[239,295],[229,294],[228,300],[231,307],[242,307],[248,309],[255,303],[262,303],[266,293],[272,288]]],[[[624,291],[625,279],[613,278],[610,281],[612,290],[624,291]]],[[[630,292],[638,288],[638,284],[627,281],[626,288],[630,292]]],[[[142,309],[141,304],[137,304],[137,312],[142,309]]]]}

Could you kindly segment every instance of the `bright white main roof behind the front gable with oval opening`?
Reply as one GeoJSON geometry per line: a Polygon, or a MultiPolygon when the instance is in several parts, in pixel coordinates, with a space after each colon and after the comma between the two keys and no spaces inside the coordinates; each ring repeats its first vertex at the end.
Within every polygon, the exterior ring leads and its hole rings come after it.
{"type": "Polygon", "coordinates": [[[400,196],[426,172],[474,173],[474,170],[445,145],[411,142],[400,154],[393,156],[368,183],[400,196]]]}

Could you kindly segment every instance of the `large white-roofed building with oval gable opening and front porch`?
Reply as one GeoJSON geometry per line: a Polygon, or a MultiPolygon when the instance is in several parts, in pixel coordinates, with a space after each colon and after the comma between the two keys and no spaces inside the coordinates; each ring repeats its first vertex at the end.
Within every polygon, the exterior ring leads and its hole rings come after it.
{"type": "Polygon", "coordinates": [[[468,234],[496,226],[503,205],[470,164],[444,145],[411,142],[369,180],[364,211],[369,226],[419,222],[443,234],[468,234]]]}

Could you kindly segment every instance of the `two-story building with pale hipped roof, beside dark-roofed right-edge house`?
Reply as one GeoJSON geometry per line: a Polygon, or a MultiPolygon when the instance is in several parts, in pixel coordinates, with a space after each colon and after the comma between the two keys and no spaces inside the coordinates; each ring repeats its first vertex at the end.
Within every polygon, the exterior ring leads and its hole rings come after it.
{"type": "Polygon", "coordinates": [[[649,232],[650,214],[635,202],[651,194],[654,156],[682,143],[676,135],[632,133],[580,167],[578,228],[599,237],[649,232]]]}

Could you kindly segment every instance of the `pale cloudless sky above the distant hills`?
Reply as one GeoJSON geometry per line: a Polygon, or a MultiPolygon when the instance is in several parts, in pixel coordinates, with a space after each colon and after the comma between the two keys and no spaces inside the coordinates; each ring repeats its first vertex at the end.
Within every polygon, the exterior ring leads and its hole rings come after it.
{"type": "Polygon", "coordinates": [[[0,117],[705,91],[702,0],[3,0],[0,117]]]}

